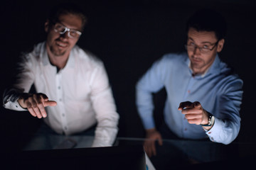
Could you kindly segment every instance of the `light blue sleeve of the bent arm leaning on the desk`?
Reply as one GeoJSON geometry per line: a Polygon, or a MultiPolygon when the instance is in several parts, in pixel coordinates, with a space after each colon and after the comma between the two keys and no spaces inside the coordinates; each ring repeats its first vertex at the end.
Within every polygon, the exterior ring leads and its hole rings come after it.
{"type": "Polygon", "coordinates": [[[145,129],[155,128],[153,93],[164,88],[164,61],[154,62],[151,68],[139,79],[136,85],[137,111],[145,129]]]}

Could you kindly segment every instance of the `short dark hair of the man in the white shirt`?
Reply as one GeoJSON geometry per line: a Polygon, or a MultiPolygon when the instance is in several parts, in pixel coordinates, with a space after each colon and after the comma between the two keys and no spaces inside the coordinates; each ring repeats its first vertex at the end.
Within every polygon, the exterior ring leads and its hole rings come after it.
{"type": "Polygon", "coordinates": [[[72,3],[63,3],[53,6],[53,8],[50,9],[48,20],[50,23],[57,23],[59,17],[64,14],[73,14],[79,16],[82,19],[82,30],[85,28],[85,23],[87,23],[85,12],[82,11],[79,6],[72,3]]]}

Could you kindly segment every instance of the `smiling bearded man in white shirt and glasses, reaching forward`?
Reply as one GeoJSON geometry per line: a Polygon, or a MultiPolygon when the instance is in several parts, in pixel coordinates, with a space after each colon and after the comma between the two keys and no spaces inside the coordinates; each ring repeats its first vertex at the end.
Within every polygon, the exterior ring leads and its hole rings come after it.
{"type": "Polygon", "coordinates": [[[92,147],[111,146],[119,115],[102,61],[78,42],[86,17],[76,6],[53,8],[45,23],[46,42],[23,55],[4,107],[43,118],[58,134],[73,135],[96,126],[92,147]],[[29,94],[32,84],[36,94],[29,94]]]}

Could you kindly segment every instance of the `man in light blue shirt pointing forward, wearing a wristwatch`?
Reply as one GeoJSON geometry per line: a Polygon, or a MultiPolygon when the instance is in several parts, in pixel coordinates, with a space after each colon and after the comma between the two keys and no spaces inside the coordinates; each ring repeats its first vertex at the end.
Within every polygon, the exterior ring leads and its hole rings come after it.
{"type": "Polygon", "coordinates": [[[177,137],[228,145],[240,130],[242,80],[218,52],[223,49],[225,20],[215,11],[199,10],[187,23],[187,52],[167,54],[138,81],[137,109],[146,130],[144,148],[156,154],[162,144],[154,123],[153,93],[166,89],[164,123],[177,137]]]}

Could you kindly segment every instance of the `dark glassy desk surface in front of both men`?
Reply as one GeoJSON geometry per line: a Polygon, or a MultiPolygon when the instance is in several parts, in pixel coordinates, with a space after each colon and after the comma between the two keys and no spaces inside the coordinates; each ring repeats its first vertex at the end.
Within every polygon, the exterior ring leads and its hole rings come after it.
{"type": "MultiPolygon", "coordinates": [[[[24,150],[38,150],[37,144],[51,149],[83,149],[89,148],[94,137],[91,136],[60,136],[48,135],[38,136],[33,141],[33,146],[26,146],[24,150]],[[46,142],[48,140],[48,142],[46,142]],[[75,145],[70,145],[67,141],[74,141],[75,145]],[[35,145],[36,144],[36,145],[35,145]],[[63,145],[64,144],[64,145],[63,145]]],[[[133,148],[142,146],[144,139],[132,137],[117,137],[115,147],[133,148]]],[[[142,147],[141,147],[142,148],[142,147]]],[[[143,148],[142,148],[143,149],[143,148]]],[[[163,140],[163,145],[156,142],[156,156],[150,158],[156,169],[228,169],[238,166],[251,166],[256,160],[256,144],[233,142],[230,145],[223,145],[210,141],[200,140],[163,140]]],[[[124,156],[123,156],[124,157],[124,156]]]]}

